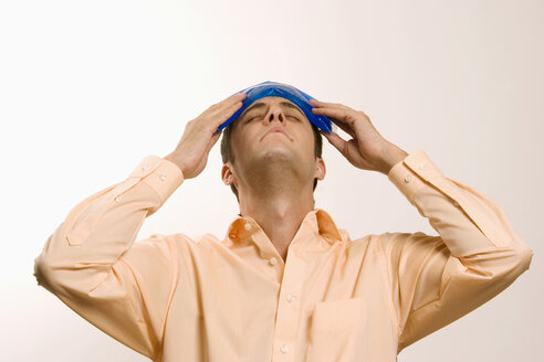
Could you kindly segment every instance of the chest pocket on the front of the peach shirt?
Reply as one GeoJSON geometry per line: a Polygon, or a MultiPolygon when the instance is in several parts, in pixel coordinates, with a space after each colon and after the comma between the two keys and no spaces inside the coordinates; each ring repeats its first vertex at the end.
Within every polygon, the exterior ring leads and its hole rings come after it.
{"type": "Polygon", "coordinates": [[[341,362],[363,356],[364,302],[363,298],[317,302],[310,321],[304,361],[341,362]]]}

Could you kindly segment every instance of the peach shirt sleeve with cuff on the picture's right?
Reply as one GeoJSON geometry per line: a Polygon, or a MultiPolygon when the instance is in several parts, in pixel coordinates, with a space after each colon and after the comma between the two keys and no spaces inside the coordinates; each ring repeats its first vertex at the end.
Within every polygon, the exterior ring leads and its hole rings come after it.
{"type": "Polygon", "coordinates": [[[396,163],[388,179],[439,234],[380,235],[400,352],[509,287],[534,252],[495,202],[442,174],[423,150],[396,163]]]}

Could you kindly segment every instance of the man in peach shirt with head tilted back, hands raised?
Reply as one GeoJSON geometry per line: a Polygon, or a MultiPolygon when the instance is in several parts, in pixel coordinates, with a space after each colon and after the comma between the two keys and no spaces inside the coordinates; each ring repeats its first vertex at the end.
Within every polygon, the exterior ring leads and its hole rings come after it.
{"type": "Polygon", "coordinates": [[[171,153],[146,157],[76,205],[35,258],[39,284],[154,361],[374,362],[395,361],[529,269],[533,251],[492,200],[443,175],[422,150],[384,139],[363,111],[291,95],[243,105],[249,94],[211,106],[171,153]],[[317,130],[313,115],[353,139],[317,130]],[[134,243],[145,217],[205,169],[233,118],[221,177],[240,214],[224,238],[134,243]],[[320,132],[356,168],[387,175],[439,235],[352,239],[314,209],[326,172],[320,132]]]}

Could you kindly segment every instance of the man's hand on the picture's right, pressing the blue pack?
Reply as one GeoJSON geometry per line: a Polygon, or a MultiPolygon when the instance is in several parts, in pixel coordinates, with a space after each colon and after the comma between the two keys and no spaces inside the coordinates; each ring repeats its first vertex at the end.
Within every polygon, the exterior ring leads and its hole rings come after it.
{"type": "Polygon", "coordinates": [[[353,139],[346,141],[334,131],[328,135],[320,130],[344,157],[358,169],[387,174],[391,167],[408,156],[407,152],[386,140],[374,128],[368,116],[338,103],[311,99],[312,111],[324,115],[353,139]]]}

